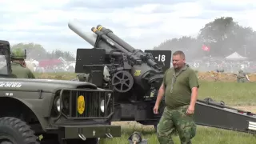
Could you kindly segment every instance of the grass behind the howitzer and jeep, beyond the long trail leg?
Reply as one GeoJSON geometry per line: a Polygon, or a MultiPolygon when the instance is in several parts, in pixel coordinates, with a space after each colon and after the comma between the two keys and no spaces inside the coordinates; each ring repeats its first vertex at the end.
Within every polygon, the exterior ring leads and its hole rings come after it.
{"type": "MultiPolygon", "coordinates": [[[[70,80],[76,78],[76,74],[35,74],[36,78],[50,78],[70,80]]],[[[237,82],[206,82],[200,81],[199,99],[213,98],[216,101],[224,101],[227,105],[250,106],[256,105],[256,83],[237,82]]]]}

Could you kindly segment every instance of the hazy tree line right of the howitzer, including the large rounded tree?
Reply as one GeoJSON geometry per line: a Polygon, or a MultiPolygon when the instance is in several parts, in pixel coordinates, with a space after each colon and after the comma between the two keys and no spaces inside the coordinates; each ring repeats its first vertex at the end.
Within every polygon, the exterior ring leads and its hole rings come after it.
{"type": "Polygon", "coordinates": [[[256,32],[251,27],[240,26],[232,17],[215,18],[199,30],[196,38],[172,38],[154,46],[154,50],[183,50],[190,58],[225,58],[237,52],[256,60],[256,32]],[[204,49],[205,47],[208,50],[204,49]]]}

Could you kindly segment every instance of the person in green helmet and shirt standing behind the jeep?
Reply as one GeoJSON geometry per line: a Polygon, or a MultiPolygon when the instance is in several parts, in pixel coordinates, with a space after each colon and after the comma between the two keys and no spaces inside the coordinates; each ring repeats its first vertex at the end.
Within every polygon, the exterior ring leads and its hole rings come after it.
{"type": "Polygon", "coordinates": [[[17,78],[35,78],[30,69],[26,67],[26,52],[22,49],[16,49],[11,53],[12,74],[17,78]]]}

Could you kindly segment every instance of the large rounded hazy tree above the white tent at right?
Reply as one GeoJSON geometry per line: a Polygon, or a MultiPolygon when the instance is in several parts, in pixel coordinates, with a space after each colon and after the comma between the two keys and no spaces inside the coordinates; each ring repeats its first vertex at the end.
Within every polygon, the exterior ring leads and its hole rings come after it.
{"type": "MultiPolygon", "coordinates": [[[[250,27],[239,26],[233,18],[216,18],[200,30],[198,39],[212,47],[211,55],[228,56],[234,51],[245,56],[244,46],[255,40],[255,32],[250,27]]],[[[252,43],[251,43],[252,44],[252,43]]],[[[250,50],[250,45],[247,46],[250,50]]]]}

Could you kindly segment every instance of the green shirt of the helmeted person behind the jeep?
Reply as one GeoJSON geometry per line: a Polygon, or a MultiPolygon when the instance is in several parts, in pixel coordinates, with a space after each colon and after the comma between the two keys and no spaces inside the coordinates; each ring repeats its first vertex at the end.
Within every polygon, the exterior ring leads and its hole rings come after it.
{"type": "Polygon", "coordinates": [[[22,67],[18,62],[12,62],[11,69],[17,78],[35,78],[30,69],[22,67]]]}

